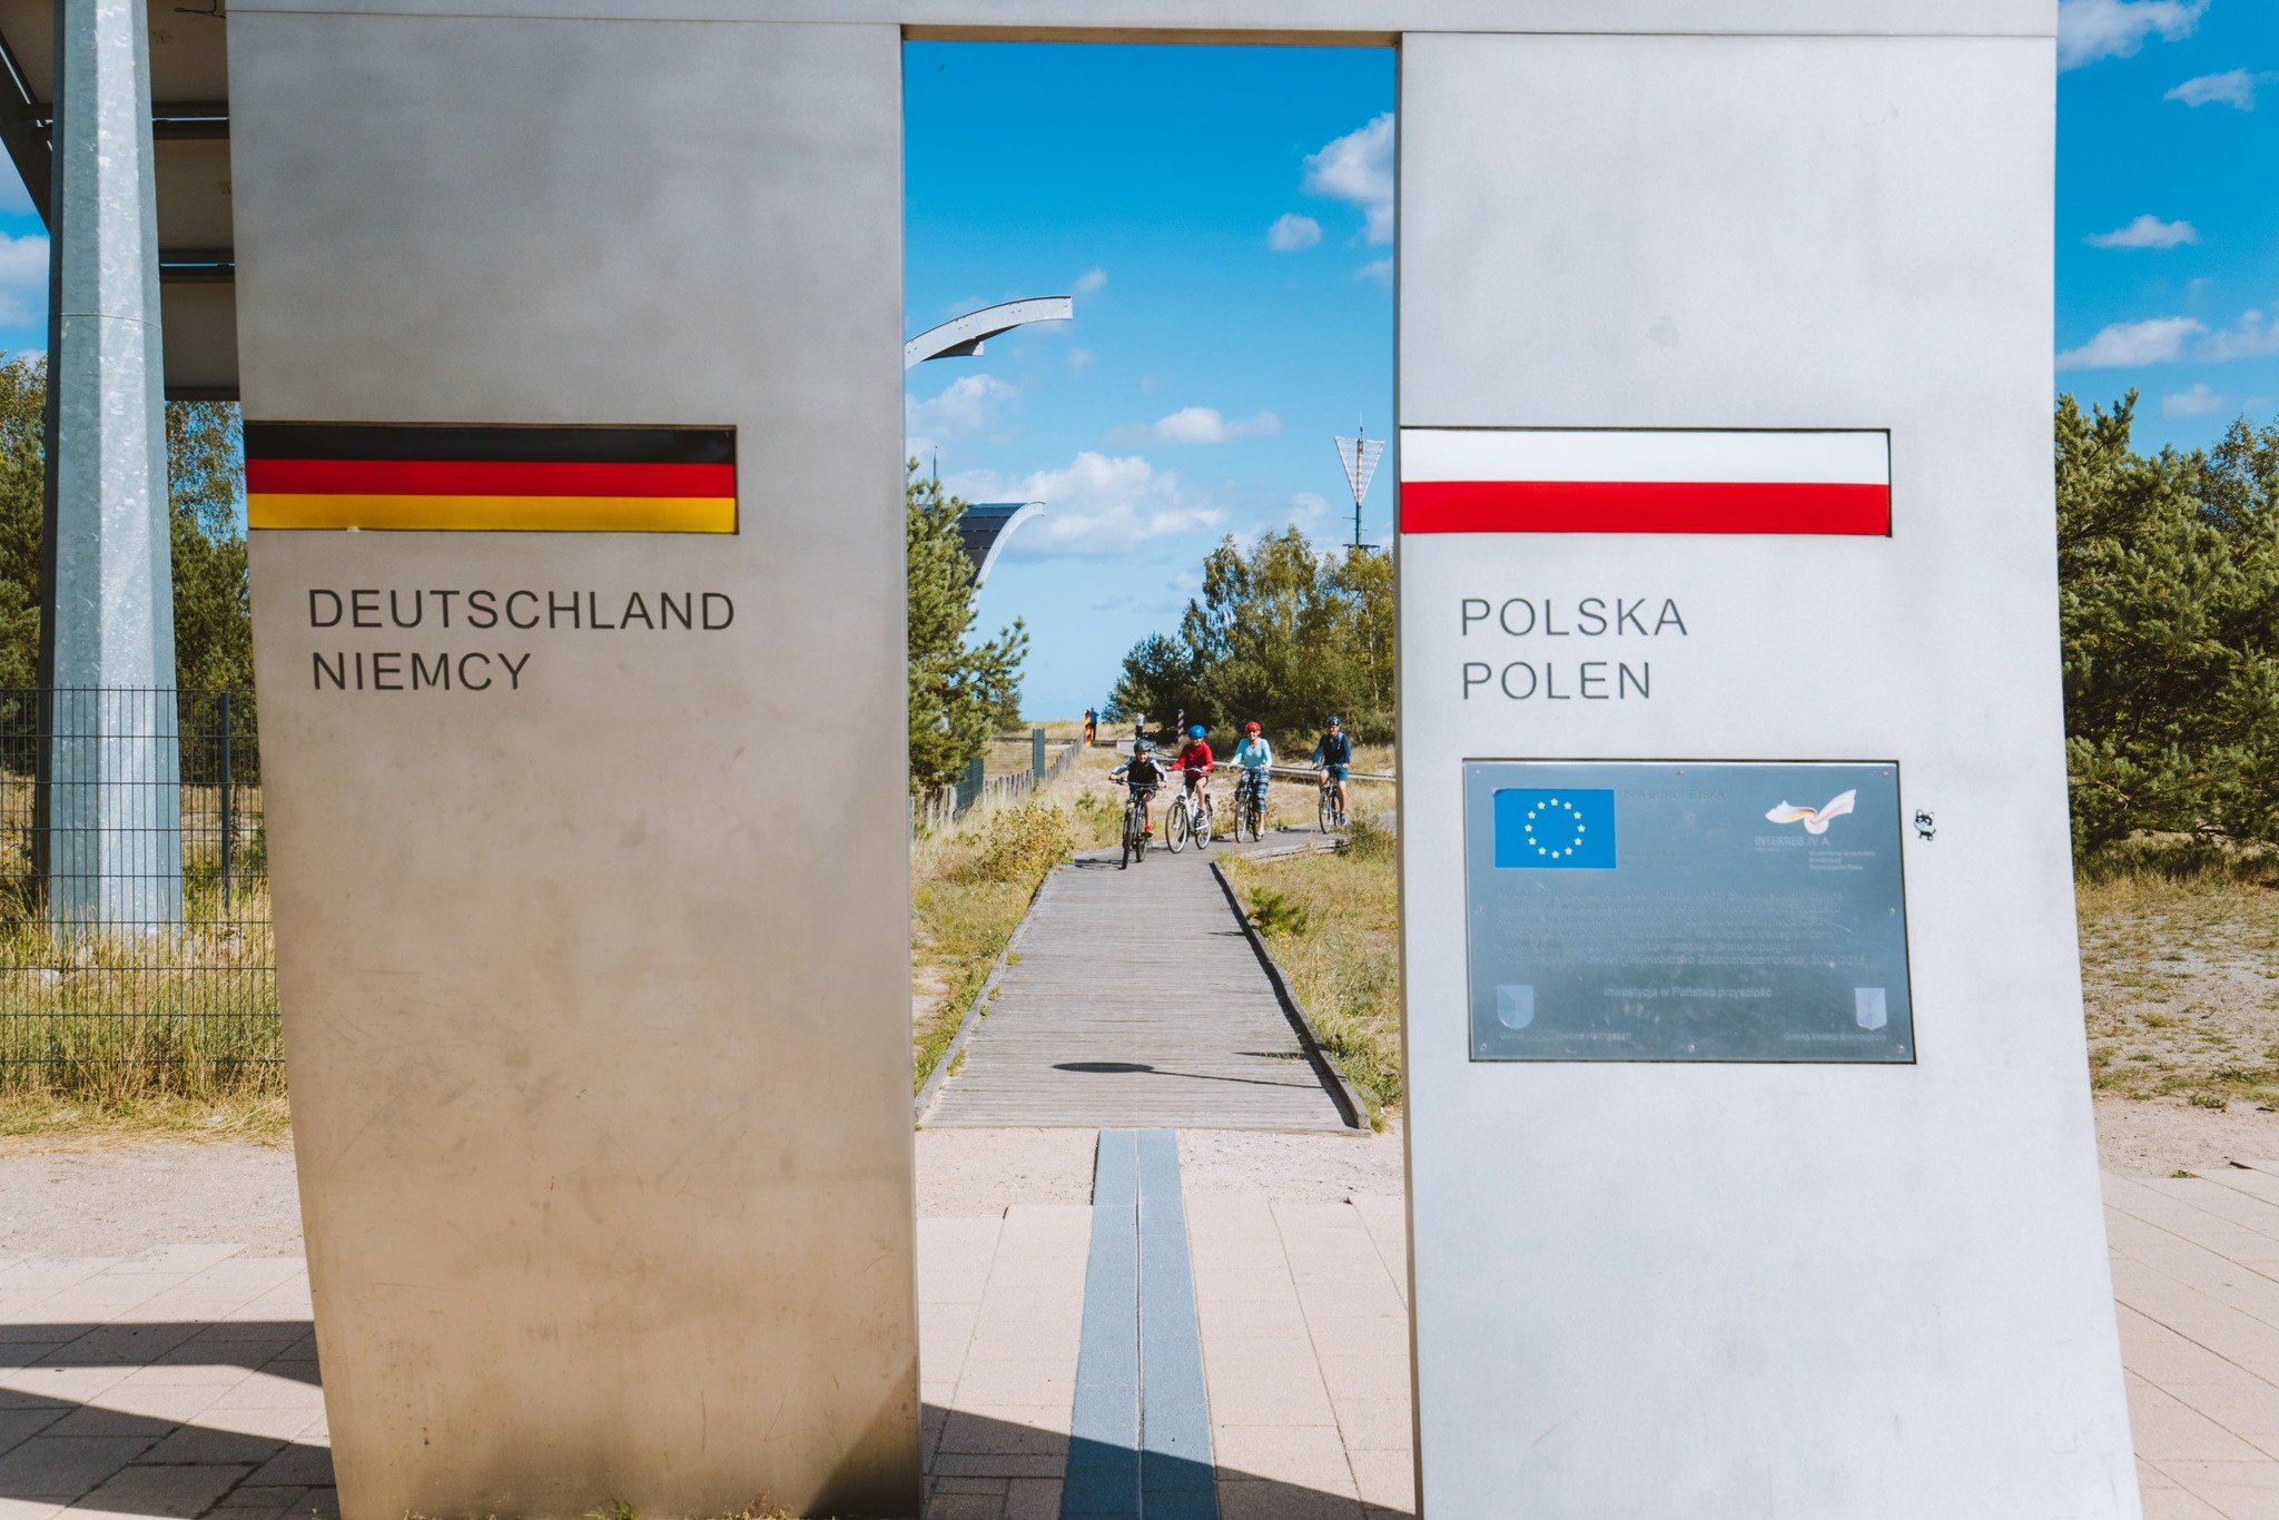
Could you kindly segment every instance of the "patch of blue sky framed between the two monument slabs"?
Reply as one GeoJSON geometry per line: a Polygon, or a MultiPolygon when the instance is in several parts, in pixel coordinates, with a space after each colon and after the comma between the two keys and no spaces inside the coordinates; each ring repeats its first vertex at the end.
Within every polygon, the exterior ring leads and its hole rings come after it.
{"type": "Polygon", "coordinates": [[[1048,504],[982,627],[1026,618],[1026,706],[1071,716],[1222,536],[1351,538],[1331,440],[1392,417],[1392,52],[912,43],[902,68],[912,333],[1076,296],[907,383],[946,488],[1048,504]]]}

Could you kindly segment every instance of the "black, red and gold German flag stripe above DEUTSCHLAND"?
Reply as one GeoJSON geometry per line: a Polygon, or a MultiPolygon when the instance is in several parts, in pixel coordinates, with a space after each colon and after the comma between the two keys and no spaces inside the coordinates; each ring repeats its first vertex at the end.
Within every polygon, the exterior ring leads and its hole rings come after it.
{"type": "Polygon", "coordinates": [[[734,533],[736,428],[248,422],[246,522],[734,533]]]}

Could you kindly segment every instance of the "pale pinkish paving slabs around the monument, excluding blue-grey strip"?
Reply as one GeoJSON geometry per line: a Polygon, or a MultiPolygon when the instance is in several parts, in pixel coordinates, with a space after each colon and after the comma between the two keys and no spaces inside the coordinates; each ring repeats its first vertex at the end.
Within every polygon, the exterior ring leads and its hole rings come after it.
{"type": "MultiPolygon", "coordinates": [[[[1224,1520],[1408,1513],[1399,1199],[1190,1192],[1224,1520]]],[[[2279,1520],[2279,1162],[2106,1176],[2149,1520],[2279,1520]]],[[[1053,1520],[1087,1203],[918,1221],[930,1520],[1053,1520]]],[[[0,1520],[337,1513],[296,1258],[0,1251],[0,1520]]]]}

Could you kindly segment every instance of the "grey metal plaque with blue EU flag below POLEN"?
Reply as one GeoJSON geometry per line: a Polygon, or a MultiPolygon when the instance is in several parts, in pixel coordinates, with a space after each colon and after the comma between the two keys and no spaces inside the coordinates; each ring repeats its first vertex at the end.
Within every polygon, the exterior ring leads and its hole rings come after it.
{"type": "Polygon", "coordinates": [[[1912,1062],[1896,763],[1465,763],[1472,1060],[1912,1062]]]}

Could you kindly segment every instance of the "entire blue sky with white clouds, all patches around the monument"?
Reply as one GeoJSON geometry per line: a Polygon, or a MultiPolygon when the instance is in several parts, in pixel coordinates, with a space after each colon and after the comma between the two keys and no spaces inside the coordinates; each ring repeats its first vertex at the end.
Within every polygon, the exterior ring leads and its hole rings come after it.
{"type": "MultiPolygon", "coordinates": [[[[2279,0],[2062,0],[2060,27],[2056,387],[2140,390],[2147,449],[2272,422],[2279,0]]],[[[907,385],[953,490],[1051,504],[982,622],[1026,618],[1030,711],[1076,713],[1224,533],[1351,531],[1331,438],[1392,412],[1392,55],[909,43],[905,93],[909,330],[1076,296],[907,385]]],[[[0,171],[9,353],[46,344],[46,264],[0,171]]]]}

